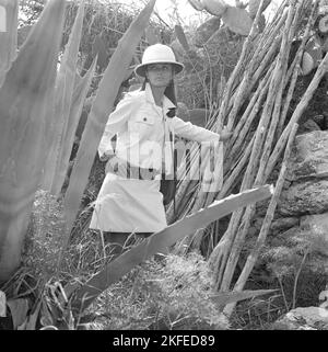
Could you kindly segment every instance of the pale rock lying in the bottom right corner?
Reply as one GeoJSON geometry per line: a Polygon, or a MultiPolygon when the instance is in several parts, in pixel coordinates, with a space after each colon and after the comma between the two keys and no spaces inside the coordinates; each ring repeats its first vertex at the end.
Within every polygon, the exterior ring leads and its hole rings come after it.
{"type": "Polygon", "coordinates": [[[298,307],[277,320],[273,330],[328,330],[328,310],[321,307],[298,307]]]}

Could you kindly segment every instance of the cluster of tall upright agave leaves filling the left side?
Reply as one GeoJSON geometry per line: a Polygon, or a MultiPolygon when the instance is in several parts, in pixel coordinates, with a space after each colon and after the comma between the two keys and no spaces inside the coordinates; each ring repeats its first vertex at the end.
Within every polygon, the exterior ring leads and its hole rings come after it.
{"type": "MultiPolygon", "coordinates": [[[[58,194],[62,185],[78,118],[95,68],[94,63],[83,79],[77,72],[82,2],[57,71],[66,3],[66,0],[47,2],[16,56],[19,0],[0,1],[7,16],[7,32],[0,32],[0,282],[8,280],[20,264],[35,192],[43,184],[58,194]]],[[[99,83],[66,193],[65,242],[107,116],[154,4],[155,0],[150,0],[131,24],[99,83]]]]}

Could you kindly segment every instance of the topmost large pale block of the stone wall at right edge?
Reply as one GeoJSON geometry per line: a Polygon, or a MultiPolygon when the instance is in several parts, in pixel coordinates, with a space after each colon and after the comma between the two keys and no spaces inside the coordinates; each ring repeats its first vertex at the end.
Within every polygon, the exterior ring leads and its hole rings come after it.
{"type": "Polygon", "coordinates": [[[295,138],[289,179],[328,177],[328,132],[317,130],[295,138]]]}

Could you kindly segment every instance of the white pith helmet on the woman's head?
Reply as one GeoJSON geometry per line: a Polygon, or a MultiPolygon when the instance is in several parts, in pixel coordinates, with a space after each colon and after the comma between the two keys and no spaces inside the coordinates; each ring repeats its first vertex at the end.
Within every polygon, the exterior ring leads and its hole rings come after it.
{"type": "Polygon", "coordinates": [[[154,44],[149,46],[142,56],[142,61],[134,69],[138,76],[145,77],[145,67],[151,64],[172,64],[175,73],[179,73],[184,69],[184,65],[177,63],[172,48],[163,44],[154,44]]]}

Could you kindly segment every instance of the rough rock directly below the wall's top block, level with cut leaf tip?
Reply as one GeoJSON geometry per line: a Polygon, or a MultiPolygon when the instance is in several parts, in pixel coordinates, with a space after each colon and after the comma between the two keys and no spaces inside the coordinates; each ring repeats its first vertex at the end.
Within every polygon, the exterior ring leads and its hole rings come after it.
{"type": "Polygon", "coordinates": [[[328,212],[328,180],[296,183],[282,192],[278,203],[282,216],[300,216],[328,212]]]}

